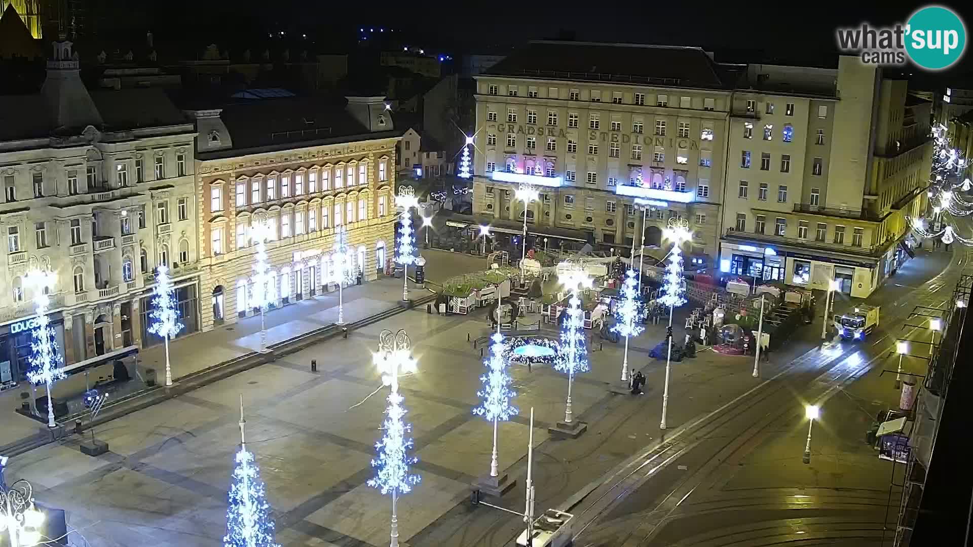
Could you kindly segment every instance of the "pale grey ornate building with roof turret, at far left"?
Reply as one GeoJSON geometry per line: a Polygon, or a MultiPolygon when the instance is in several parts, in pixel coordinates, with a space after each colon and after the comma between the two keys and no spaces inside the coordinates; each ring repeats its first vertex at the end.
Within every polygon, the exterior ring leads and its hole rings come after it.
{"type": "Polygon", "coordinates": [[[67,41],[52,44],[40,92],[0,104],[0,383],[27,370],[32,269],[57,275],[65,363],[162,342],[146,331],[161,264],[180,287],[183,334],[197,330],[193,124],[161,90],[88,91],[67,41]]]}

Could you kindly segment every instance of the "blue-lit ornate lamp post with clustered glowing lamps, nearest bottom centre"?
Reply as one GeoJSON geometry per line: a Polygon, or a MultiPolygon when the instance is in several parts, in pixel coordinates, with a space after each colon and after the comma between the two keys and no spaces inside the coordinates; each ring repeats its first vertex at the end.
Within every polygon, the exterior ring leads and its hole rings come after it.
{"type": "Polygon", "coordinates": [[[412,341],[406,331],[400,329],[395,334],[389,330],[381,331],[374,361],[381,373],[382,383],[391,387],[391,392],[388,395],[388,408],[385,409],[386,418],[382,423],[385,436],[376,443],[378,457],[372,460],[372,466],[378,473],[368,481],[368,485],[381,493],[392,493],[390,546],[398,547],[399,518],[396,502],[400,493],[412,492],[413,486],[420,480],[418,475],[409,472],[409,466],[417,458],[408,454],[413,447],[413,440],[406,435],[412,430],[412,425],[402,420],[406,409],[402,406],[403,397],[399,394],[399,374],[415,372],[412,341]]]}

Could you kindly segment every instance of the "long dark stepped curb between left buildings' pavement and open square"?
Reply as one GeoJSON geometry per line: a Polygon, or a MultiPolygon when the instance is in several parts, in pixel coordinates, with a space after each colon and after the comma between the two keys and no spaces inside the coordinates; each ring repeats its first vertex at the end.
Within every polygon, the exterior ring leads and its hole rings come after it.
{"type": "MultiPolygon", "coordinates": [[[[339,325],[338,323],[332,323],[330,325],[323,326],[318,329],[314,329],[303,335],[294,337],[290,340],[284,342],[279,342],[277,344],[272,344],[268,346],[267,352],[251,351],[239,357],[234,357],[227,361],[217,363],[208,368],[190,373],[186,376],[175,379],[172,385],[156,385],[154,387],[149,387],[141,391],[137,391],[121,399],[116,399],[106,404],[103,411],[98,415],[98,417],[92,421],[89,421],[83,425],[82,430],[88,429],[92,426],[101,425],[107,423],[113,419],[119,419],[127,416],[131,413],[138,412],[140,410],[146,409],[148,407],[162,403],[168,399],[178,397],[198,389],[204,385],[210,383],[219,382],[220,380],[225,380],[239,374],[241,372],[272,363],[278,357],[283,357],[284,355],[289,355],[297,351],[305,349],[307,346],[312,346],[314,344],[324,342],[335,338],[336,336],[343,335],[345,331],[350,331],[353,329],[358,329],[361,327],[368,326],[372,323],[376,323],[382,319],[387,319],[393,315],[397,315],[402,311],[414,310],[415,308],[422,306],[424,304],[431,303],[435,301],[436,295],[430,294],[418,299],[413,302],[413,308],[406,309],[400,306],[395,306],[388,310],[379,311],[374,315],[364,317],[355,321],[353,323],[346,323],[344,325],[339,325]]],[[[81,415],[84,416],[84,415],[81,415]]],[[[61,423],[58,428],[65,434],[54,435],[47,431],[41,431],[10,443],[8,445],[0,447],[0,454],[3,456],[19,456],[21,454],[30,452],[34,449],[43,447],[49,443],[65,438],[67,435],[75,432],[75,428],[70,426],[70,420],[76,419],[78,417],[70,417],[65,423],[61,423]]]]}

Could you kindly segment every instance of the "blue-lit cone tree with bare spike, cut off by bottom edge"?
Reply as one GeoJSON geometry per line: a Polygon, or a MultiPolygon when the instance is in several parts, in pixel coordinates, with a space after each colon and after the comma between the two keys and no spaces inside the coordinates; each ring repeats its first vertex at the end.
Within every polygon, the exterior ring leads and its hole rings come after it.
{"type": "Polygon", "coordinates": [[[240,396],[240,450],[237,451],[233,484],[230,486],[230,505],[227,508],[227,534],[224,547],[280,547],[273,540],[273,521],[270,503],[260,468],[252,453],[246,450],[244,434],[243,397],[240,396]]]}

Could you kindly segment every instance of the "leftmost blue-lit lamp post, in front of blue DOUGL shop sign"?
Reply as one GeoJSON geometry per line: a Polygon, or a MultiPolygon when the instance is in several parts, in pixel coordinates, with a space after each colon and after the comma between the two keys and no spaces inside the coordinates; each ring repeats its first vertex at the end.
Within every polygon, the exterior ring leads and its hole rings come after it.
{"type": "Polygon", "coordinates": [[[34,340],[30,344],[31,369],[27,372],[27,381],[34,385],[43,383],[47,388],[48,427],[56,427],[51,387],[54,382],[65,378],[64,361],[57,351],[54,329],[51,328],[51,318],[48,317],[48,310],[51,308],[48,292],[54,288],[56,276],[54,272],[34,269],[24,276],[24,280],[34,294],[34,308],[37,313],[37,326],[31,333],[34,340]]]}

